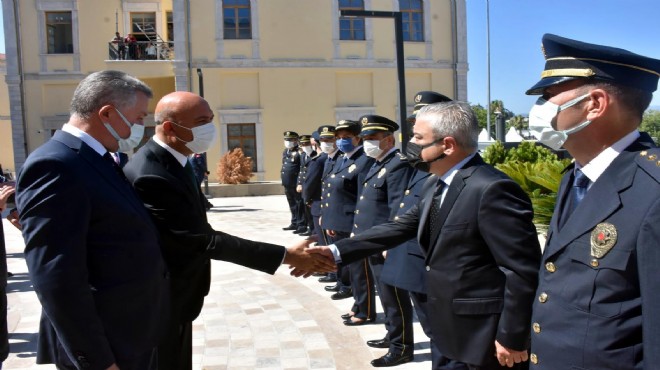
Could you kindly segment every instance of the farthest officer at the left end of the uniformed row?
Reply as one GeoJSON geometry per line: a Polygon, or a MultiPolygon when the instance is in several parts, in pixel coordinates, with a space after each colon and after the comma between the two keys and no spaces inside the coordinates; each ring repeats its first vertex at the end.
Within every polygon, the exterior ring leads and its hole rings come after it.
{"type": "Polygon", "coordinates": [[[284,195],[289,203],[291,211],[291,224],[282,230],[294,230],[294,232],[307,231],[305,220],[298,202],[301,199],[296,191],[298,186],[298,174],[300,173],[300,150],[298,148],[298,133],[293,131],[284,132],[284,151],[282,152],[282,186],[284,195]]]}

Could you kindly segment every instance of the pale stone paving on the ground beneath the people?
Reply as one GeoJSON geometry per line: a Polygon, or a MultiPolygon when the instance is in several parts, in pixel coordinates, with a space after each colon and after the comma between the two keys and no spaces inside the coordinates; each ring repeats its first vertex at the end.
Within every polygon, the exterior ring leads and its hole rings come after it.
{"type": "MultiPolygon", "coordinates": [[[[282,195],[214,198],[208,212],[216,230],[289,245],[302,239],[282,227],[289,210],[282,195]]],[[[4,369],[55,369],[36,365],[41,306],[27,276],[20,233],[4,222],[9,271],[8,323],[11,353],[4,369]]],[[[213,261],[211,291],[193,323],[193,369],[370,369],[387,350],[365,342],[385,335],[379,306],[377,323],[347,327],[339,317],[351,299],[333,301],[317,278],[291,277],[282,266],[274,276],[213,261]]],[[[428,338],[415,322],[415,360],[396,369],[428,369],[428,338]]]]}

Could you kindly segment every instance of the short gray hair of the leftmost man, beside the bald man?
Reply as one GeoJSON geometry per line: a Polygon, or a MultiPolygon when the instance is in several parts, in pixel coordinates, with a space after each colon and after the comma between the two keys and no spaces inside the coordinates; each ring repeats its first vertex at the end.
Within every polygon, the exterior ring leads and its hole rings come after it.
{"type": "Polygon", "coordinates": [[[108,104],[117,108],[133,107],[138,92],[153,97],[149,86],[124,72],[94,72],[80,81],[73,92],[71,115],[89,118],[108,104]]]}

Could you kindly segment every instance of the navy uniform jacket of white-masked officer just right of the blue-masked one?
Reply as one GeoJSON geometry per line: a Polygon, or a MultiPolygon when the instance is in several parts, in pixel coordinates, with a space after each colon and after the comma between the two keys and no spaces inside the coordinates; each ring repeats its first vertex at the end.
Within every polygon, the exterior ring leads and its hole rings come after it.
{"type": "Polygon", "coordinates": [[[354,234],[394,219],[412,171],[397,149],[360,175],[362,190],[355,206],[354,234]]]}

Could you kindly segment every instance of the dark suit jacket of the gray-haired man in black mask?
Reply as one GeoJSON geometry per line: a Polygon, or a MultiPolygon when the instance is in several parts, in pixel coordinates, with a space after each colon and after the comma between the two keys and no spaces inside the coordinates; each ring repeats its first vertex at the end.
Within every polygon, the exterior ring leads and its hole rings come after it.
{"type": "Polygon", "coordinates": [[[477,154],[455,175],[430,235],[437,182],[399,219],[336,243],[342,262],[417,236],[425,255],[431,331],[440,352],[473,365],[492,361],[498,340],[523,350],[529,340],[540,248],[532,205],[520,186],[477,154]]]}

